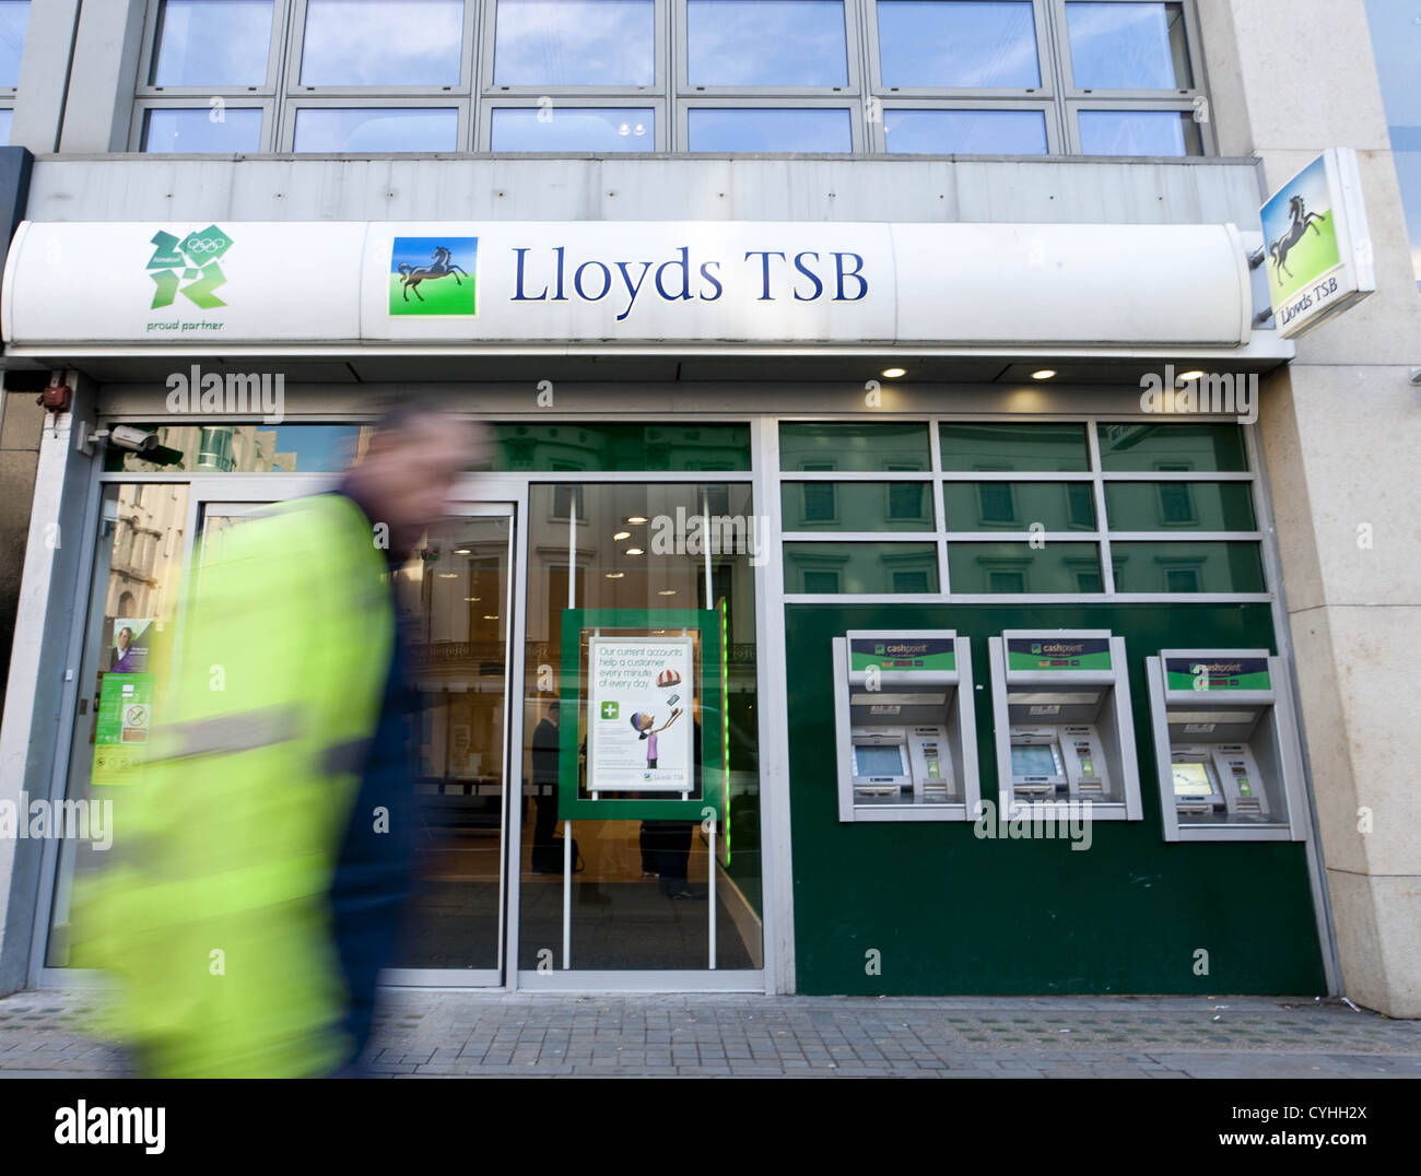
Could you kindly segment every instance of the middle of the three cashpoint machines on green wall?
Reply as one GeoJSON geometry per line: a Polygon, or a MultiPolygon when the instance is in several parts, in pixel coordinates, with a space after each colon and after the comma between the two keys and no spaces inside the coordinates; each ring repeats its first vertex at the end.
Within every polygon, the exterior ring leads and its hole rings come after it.
{"type": "Polygon", "coordinates": [[[1088,801],[1093,820],[1141,820],[1124,638],[1007,629],[988,655],[1003,817],[1088,801]]]}

